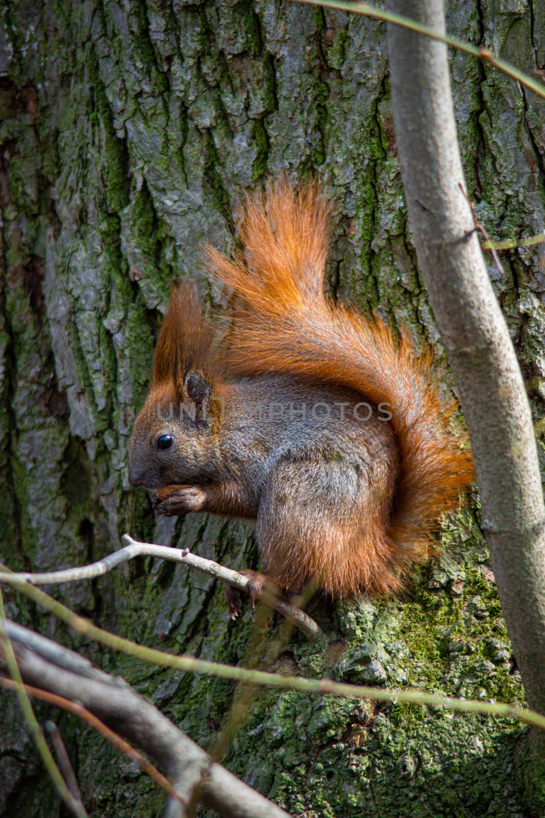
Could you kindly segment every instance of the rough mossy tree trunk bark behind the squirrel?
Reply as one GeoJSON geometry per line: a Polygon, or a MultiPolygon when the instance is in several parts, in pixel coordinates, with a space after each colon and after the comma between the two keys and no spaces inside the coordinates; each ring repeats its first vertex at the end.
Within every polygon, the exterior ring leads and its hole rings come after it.
{"type": "MultiPolygon", "coordinates": [[[[543,3],[451,2],[447,27],[543,72],[543,3]]],[[[288,2],[8,2],[0,43],[0,559],[51,570],[100,558],[125,530],[254,567],[251,531],[159,520],[127,484],[127,440],[145,397],[172,278],[209,307],[224,296],[199,245],[233,244],[225,219],[267,175],[317,171],[335,197],[329,281],[442,352],[407,228],[385,27],[288,2]]],[[[453,97],[477,213],[493,237],[543,230],[545,105],[453,54],[453,97]]],[[[516,344],[534,420],[543,414],[543,245],[489,276],[516,344]]],[[[445,389],[452,386],[448,374],[445,389]]],[[[347,681],[520,699],[483,537],[469,511],[404,600],[316,605],[321,654],[295,635],[279,667],[347,681]]],[[[150,645],[236,663],[252,613],[228,620],[212,580],[150,561],[56,595],[150,645]]],[[[81,644],[20,596],[11,618],[119,672],[208,746],[230,683],[154,672],[81,644]]],[[[11,694],[0,699],[0,816],[60,808],[11,694]]],[[[45,717],[46,709],[42,708],[45,717]]],[[[73,717],[57,717],[90,814],[154,816],[162,793],[73,717]]],[[[226,766],[296,816],[528,814],[505,721],[263,691],[226,766]]],[[[205,811],[203,815],[208,815],[205,811]]]]}

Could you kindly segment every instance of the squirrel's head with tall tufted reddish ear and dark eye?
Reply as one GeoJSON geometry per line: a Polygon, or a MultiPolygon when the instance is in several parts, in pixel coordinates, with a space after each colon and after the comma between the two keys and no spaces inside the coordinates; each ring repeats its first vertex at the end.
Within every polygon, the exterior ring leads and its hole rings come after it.
{"type": "Polygon", "coordinates": [[[189,287],[172,290],[154,357],[154,381],[129,444],[129,483],[206,482],[221,405],[214,400],[212,327],[189,287]]]}

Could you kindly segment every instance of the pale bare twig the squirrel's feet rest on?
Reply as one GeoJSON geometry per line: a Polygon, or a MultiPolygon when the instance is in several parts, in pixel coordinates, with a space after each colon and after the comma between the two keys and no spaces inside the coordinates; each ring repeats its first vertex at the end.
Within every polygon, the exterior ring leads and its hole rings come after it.
{"type": "MultiPolygon", "coordinates": [[[[18,578],[31,585],[59,585],[61,582],[78,582],[83,579],[95,579],[101,577],[105,573],[109,573],[118,565],[134,560],[138,556],[156,557],[160,560],[171,560],[188,565],[190,568],[197,569],[201,573],[208,574],[209,577],[219,579],[221,582],[226,582],[240,591],[245,591],[248,587],[248,578],[238,571],[233,571],[220,565],[213,560],[206,560],[199,555],[191,554],[186,548],[180,550],[179,548],[169,548],[168,546],[158,546],[150,542],[138,542],[133,540],[129,534],[123,534],[123,542],[125,547],[115,551],[114,554],[105,556],[102,560],[89,565],[82,565],[78,568],[69,568],[62,571],[49,571],[47,573],[0,573],[0,583],[12,582],[13,578],[18,578]]],[[[315,642],[321,636],[322,631],[308,614],[297,608],[295,605],[290,605],[284,600],[280,600],[278,596],[271,593],[267,589],[261,592],[260,599],[266,602],[283,616],[288,618],[299,630],[301,630],[306,638],[315,642]]]]}

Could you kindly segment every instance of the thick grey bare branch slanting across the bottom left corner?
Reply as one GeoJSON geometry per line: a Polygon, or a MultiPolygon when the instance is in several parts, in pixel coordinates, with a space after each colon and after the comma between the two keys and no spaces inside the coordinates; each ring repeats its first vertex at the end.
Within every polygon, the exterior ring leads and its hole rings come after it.
{"type": "MultiPolygon", "coordinates": [[[[74,667],[73,652],[56,645],[57,655],[65,654],[60,665],[52,663],[39,652],[25,647],[25,641],[33,640],[29,631],[17,626],[12,630],[11,640],[16,649],[20,673],[26,683],[64,699],[82,703],[108,726],[130,740],[154,758],[176,782],[193,789],[205,776],[201,789],[202,802],[225,818],[289,818],[288,813],[268,801],[255,790],[243,784],[235,775],[216,762],[188,736],[163,716],[157,708],[122,679],[100,672],[98,676],[80,676],[65,667],[74,667]],[[26,631],[26,633],[25,633],[26,631]]],[[[41,637],[41,643],[47,642],[41,637]]],[[[51,657],[51,649],[44,651],[51,657]]],[[[180,793],[183,798],[183,793],[180,793]]]]}

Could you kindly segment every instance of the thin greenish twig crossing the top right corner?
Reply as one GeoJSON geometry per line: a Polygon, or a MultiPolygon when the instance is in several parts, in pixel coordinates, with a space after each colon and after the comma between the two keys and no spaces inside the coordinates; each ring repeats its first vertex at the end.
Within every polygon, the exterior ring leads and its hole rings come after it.
{"type": "Polygon", "coordinates": [[[355,14],[362,14],[365,17],[372,17],[374,20],[383,20],[386,23],[399,25],[402,29],[409,29],[409,31],[417,32],[417,34],[423,34],[425,37],[429,37],[432,40],[437,40],[439,43],[452,46],[453,48],[456,48],[457,51],[461,51],[464,54],[470,54],[471,56],[476,57],[477,60],[482,60],[489,65],[494,65],[494,68],[497,68],[498,71],[501,71],[503,74],[507,74],[507,76],[511,77],[511,79],[516,79],[517,83],[524,85],[525,88],[529,88],[530,91],[538,94],[538,97],[543,97],[543,99],[545,99],[545,85],[543,83],[536,82],[535,79],[532,79],[528,76],[528,74],[520,71],[515,67],[515,65],[511,65],[511,63],[502,60],[498,56],[495,56],[489,48],[474,46],[472,43],[467,43],[465,40],[461,40],[458,37],[450,37],[448,34],[440,34],[439,31],[431,28],[430,25],[422,25],[421,23],[417,23],[415,20],[411,20],[410,17],[394,14],[391,11],[382,11],[382,9],[375,6],[370,6],[369,3],[366,2],[346,2],[346,0],[296,0],[296,2],[303,2],[310,6],[337,8],[339,11],[353,11],[355,14]]]}

